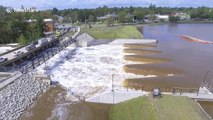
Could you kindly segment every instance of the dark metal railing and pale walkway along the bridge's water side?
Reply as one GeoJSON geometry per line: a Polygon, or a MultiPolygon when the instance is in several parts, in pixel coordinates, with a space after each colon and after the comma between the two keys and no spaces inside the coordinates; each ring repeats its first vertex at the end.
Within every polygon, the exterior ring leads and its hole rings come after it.
{"type": "MultiPolygon", "coordinates": [[[[74,41],[73,39],[69,39],[65,42],[62,42],[62,43],[60,43],[60,45],[58,47],[45,50],[44,52],[39,54],[34,59],[29,60],[29,61],[25,61],[21,65],[14,65],[12,67],[0,67],[1,72],[8,72],[8,73],[14,73],[15,72],[15,74],[12,74],[12,75],[8,76],[7,78],[1,80],[0,89],[4,88],[5,86],[10,84],[14,80],[20,78],[21,76],[29,73],[30,71],[32,71],[36,67],[45,63],[48,59],[52,58],[54,55],[56,55],[57,53],[59,53],[60,51],[65,49],[67,46],[72,44],[73,41],[74,41]]],[[[79,97],[79,99],[85,100],[85,98],[81,98],[81,97],[79,97]]]]}

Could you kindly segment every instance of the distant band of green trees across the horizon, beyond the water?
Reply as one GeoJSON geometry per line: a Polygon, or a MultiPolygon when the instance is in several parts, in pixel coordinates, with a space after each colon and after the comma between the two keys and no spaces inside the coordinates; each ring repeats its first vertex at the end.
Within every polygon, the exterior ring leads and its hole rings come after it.
{"type": "Polygon", "coordinates": [[[65,16],[66,18],[71,18],[72,22],[85,22],[91,21],[91,16],[93,21],[97,21],[97,17],[104,16],[107,14],[117,14],[118,21],[120,23],[128,22],[128,19],[142,20],[145,15],[150,14],[173,14],[175,12],[183,12],[191,15],[192,18],[206,18],[213,19],[213,10],[208,7],[199,8],[170,8],[170,7],[156,7],[155,5],[150,5],[149,7],[113,7],[109,8],[107,6],[99,7],[96,9],[65,9],[59,10],[58,15],[65,16]],[[131,18],[128,18],[131,15],[131,18]],[[126,17],[126,19],[125,19],[126,17]]]}

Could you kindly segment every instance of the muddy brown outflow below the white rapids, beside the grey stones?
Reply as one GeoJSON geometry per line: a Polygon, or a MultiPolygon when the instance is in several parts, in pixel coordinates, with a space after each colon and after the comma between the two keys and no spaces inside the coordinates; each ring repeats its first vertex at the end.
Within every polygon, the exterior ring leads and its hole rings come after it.
{"type": "Polygon", "coordinates": [[[110,104],[73,101],[61,86],[51,87],[20,120],[108,120],[110,104]]]}

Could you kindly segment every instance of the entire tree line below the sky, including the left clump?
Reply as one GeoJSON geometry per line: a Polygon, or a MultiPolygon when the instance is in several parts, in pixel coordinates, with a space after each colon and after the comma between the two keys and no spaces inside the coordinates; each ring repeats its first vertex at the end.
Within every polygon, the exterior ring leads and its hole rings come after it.
{"type": "MultiPolygon", "coordinates": [[[[118,23],[132,22],[132,20],[141,21],[145,15],[150,15],[151,19],[154,14],[172,14],[175,12],[187,13],[195,20],[213,20],[213,9],[208,7],[198,8],[170,8],[156,7],[113,7],[107,6],[98,7],[95,9],[64,9],[44,10],[38,12],[11,12],[8,13],[6,7],[0,6],[0,44],[19,42],[26,44],[43,36],[43,19],[53,18],[58,20],[57,16],[63,17],[64,23],[92,23],[97,22],[98,17],[107,14],[116,14],[118,23]],[[27,20],[36,20],[33,23],[27,23],[27,20]]],[[[172,21],[177,21],[178,18],[171,18],[172,21]]],[[[114,22],[109,18],[107,22],[114,22]]]]}

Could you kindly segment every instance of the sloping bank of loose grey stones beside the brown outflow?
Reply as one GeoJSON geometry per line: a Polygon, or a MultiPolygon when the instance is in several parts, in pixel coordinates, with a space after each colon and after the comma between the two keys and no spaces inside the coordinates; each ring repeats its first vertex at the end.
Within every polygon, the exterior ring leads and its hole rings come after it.
{"type": "Polygon", "coordinates": [[[0,91],[0,120],[18,119],[48,86],[32,75],[23,75],[6,86],[0,91]]]}

